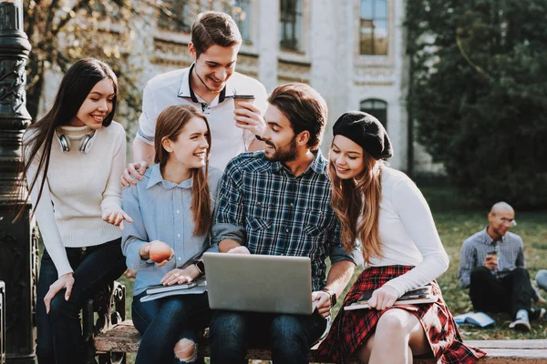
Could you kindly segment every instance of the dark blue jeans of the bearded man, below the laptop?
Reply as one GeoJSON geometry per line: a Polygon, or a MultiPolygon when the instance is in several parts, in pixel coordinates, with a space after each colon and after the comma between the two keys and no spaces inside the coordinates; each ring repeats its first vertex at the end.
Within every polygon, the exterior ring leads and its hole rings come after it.
{"type": "Polygon", "coordinates": [[[248,346],[272,350],[277,364],[309,363],[309,351],[326,329],[312,315],[215,311],[210,328],[211,363],[246,363],[248,346]]]}

